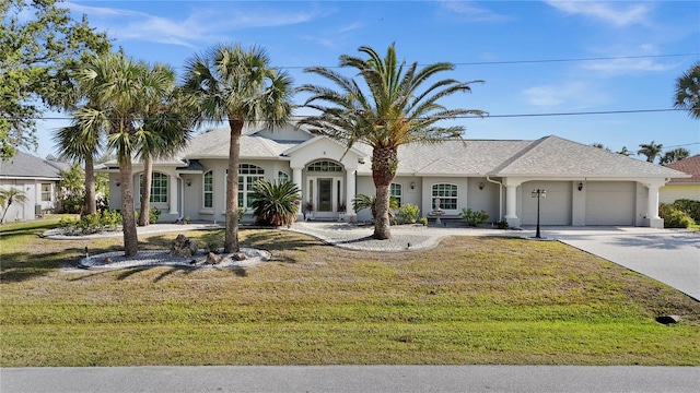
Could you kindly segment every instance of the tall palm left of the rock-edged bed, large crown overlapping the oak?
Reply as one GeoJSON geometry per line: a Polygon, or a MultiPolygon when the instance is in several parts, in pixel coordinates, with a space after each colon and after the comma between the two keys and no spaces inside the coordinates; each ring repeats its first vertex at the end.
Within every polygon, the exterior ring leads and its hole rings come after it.
{"type": "Polygon", "coordinates": [[[161,102],[172,83],[161,68],[151,68],[124,53],[91,58],[77,73],[77,81],[80,88],[95,100],[92,106],[78,109],[73,116],[90,129],[104,130],[107,147],[117,153],[124,251],[126,257],[133,257],[138,252],[138,238],[131,157],[141,142],[137,131],[149,115],[148,108],[161,102]]]}

